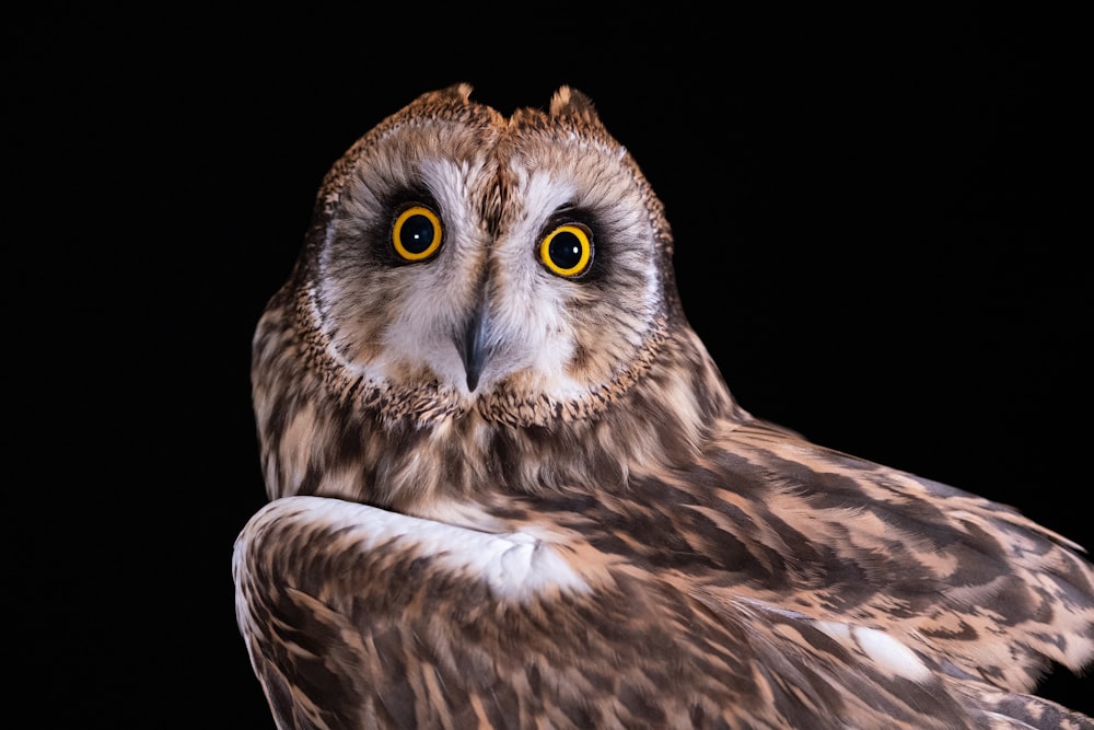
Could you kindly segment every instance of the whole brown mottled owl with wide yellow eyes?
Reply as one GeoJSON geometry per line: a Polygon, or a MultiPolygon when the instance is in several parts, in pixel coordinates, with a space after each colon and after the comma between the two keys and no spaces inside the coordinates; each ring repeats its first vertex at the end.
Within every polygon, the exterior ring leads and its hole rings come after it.
{"type": "MultiPolygon", "coordinates": [[[[686,245],[686,244],[685,244],[686,245]]],[[[754,417],[592,101],[467,84],[323,181],[253,340],[236,621],[278,728],[1094,728],[1094,566],[754,417]]]]}

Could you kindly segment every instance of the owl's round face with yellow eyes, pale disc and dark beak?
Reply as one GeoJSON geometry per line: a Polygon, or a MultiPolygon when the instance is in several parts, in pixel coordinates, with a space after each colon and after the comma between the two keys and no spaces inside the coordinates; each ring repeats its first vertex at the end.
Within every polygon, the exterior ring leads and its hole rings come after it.
{"type": "Polygon", "coordinates": [[[469,91],[419,99],[328,177],[312,316],[346,376],[428,401],[415,417],[587,409],[663,318],[660,206],[583,97],[505,119],[469,91]]]}

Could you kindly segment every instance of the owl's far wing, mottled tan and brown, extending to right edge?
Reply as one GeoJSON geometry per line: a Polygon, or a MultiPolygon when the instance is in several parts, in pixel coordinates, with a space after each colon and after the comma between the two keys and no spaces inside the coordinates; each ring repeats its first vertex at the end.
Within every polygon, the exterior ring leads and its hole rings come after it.
{"type": "Polygon", "coordinates": [[[705,461],[732,491],[700,509],[746,545],[756,598],[886,627],[1017,692],[1049,660],[1094,658],[1094,567],[1016,510],[760,421],[705,461]]]}

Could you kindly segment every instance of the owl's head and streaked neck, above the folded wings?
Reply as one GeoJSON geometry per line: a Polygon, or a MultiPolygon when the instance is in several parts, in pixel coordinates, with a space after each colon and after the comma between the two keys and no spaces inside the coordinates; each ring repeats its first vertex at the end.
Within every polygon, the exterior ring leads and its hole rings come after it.
{"type": "Polygon", "coordinates": [[[418,97],[323,182],[255,336],[271,495],[544,488],[567,467],[505,471],[529,434],[539,459],[678,451],[663,441],[731,407],[682,312],[663,206],[589,97],[563,86],[505,117],[470,92],[418,97]]]}

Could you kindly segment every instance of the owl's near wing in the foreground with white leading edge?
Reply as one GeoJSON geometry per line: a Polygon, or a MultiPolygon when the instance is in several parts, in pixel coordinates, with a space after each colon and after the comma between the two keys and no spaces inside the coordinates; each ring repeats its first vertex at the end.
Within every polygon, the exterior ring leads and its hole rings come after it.
{"type": "Polygon", "coordinates": [[[606,544],[282,498],[236,543],[238,623],[282,729],[1091,727],[606,544]]]}

